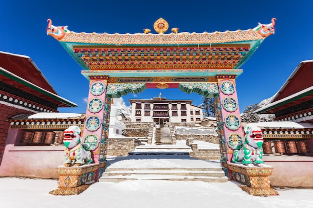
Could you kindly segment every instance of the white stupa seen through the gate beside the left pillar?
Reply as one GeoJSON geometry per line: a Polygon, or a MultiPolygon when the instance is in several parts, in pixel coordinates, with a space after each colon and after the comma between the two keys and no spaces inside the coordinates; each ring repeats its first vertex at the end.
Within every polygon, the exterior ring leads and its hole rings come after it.
{"type": "Polygon", "coordinates": [[[120,138],[124,137],[121,135],[122,130],[125,129],[125,125],[121,124],[117,119],[118,108],[114,103],[111,104],[111,112],[110,112],[110,123],[108,126],[108,138],[120,138]]]}

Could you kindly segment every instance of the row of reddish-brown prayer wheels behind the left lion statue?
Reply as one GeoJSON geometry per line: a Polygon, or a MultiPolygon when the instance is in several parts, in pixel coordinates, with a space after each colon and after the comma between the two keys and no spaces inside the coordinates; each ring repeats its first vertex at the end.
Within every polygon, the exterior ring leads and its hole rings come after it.
{"type": "MultiPolygon", "coordinates": [[[[63,142],[64,132],[59,132],[57,135],[56,143],[63,142]]],[[[25,131],[21,139],[24,144],[54,144],[56,133],[53,131],[40,132],[40,131],[25,131]]]]}

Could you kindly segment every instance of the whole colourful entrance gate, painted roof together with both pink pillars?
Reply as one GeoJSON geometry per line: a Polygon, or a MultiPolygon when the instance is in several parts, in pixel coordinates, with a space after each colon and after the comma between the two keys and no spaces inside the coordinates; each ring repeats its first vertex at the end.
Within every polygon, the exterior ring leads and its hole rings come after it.
{"type": "Polygon", "coordinates": [[[89,94],[83,143],[88,143],[98,176],[105,170],[111,98],[146,88],[179,88],[186,93],[214,97],[221,165],[227,163],[242,141],[235,78],[242,64],[261,42],[274,33],[270,24],[248,30],[213,33],[164,34],[168,23],[159,18],[150,29],[137,34],[75,33],[56,27],[48,19],[47,34],[56,38],[84,69],[89,94]]]}

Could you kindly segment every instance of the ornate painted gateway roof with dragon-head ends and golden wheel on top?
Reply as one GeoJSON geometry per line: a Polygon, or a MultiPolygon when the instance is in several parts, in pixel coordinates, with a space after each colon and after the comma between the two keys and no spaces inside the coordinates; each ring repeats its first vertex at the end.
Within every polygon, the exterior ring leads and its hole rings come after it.
{"type": "Polygon", "coordinates": [[[274,20],[247,30],[189,33],[172,28],[164,34],[168,23],[159,18],[153,25],[157,34],[147,28],[136,34],[100,34],[73,32],[48,19],[47,34],[85,70],[86,78],[95,71],[109,77],[238,76],[242,64],[274,33],[274,20]]]}

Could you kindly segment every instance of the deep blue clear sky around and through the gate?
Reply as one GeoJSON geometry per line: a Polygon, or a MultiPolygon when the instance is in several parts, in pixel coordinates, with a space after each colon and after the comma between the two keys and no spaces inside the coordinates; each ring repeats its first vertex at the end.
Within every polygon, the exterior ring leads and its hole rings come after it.
{"type": "MultiPolygon", "coordinates": [[[[179,27],[180,32],[245,30],[254,28],[257,22],[268,24],[275,17],[275,34],[263,41],[236,79],[243,112],[247,105],[274,95],[299,62],[313,59],[312,10],[311,0],[3,0],[0,51],[29,56],[58,94],[79,106],[59,108],[60,112],[84,113],[88,80],[58,41],[46,35],[48,18],[53,25],[68,25],[74,32],[137,33],[153,28],[159,17],[168,22],[169,28],[179,27]]],[[[202,103],[200,95],[179,89],[147,89],[123,99],[129,105],[128,99],[150,99],[160,92],[167,99],[202,103]]]]}

